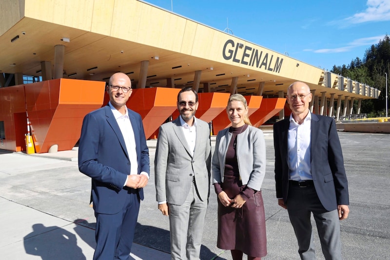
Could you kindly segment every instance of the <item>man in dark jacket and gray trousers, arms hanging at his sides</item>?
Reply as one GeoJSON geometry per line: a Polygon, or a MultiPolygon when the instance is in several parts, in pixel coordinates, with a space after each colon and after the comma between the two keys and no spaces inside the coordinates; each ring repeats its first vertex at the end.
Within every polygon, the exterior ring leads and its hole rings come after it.
{"type": "Polygon", "coordinates": [[[292,83],[292,115],[273,126],[276,197],[288,210],[301,259],[315,259],[311,213],[325,259],[342,259],[339,220],[349,213],[343,154],[334,120],[312,114],[311,100],[307,84],[292,83]]]}

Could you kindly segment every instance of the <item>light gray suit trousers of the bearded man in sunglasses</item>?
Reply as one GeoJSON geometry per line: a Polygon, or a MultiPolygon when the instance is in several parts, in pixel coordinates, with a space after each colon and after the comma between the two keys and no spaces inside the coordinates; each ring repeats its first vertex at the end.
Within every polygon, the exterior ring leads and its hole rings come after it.
{"type": "Polygon", "coordinates": [[[202,201],[193,183],[182,205],[169,204],[172,260],[199,260],[208,201],[202,201]]]}

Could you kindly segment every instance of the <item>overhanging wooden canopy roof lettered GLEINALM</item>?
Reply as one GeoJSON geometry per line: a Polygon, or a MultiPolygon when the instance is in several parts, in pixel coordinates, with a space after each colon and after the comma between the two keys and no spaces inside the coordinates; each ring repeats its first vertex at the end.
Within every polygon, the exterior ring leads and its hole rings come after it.
{"type": "Polygon", "coordinates": [[[243,95],[258,93],[264,82],[263,95],[277,96],[296,80],[327,97],[379,95],[365,84],[139,0],[3,0],[0,7],[2,73],[39,76],[41,61],[55,66],[55,46],[61,44],[64,78],[107,81],[121,71],[137,84],[140,62],[149,60],[146,85],[152,87],[166,86],[167,79],[176,87],[192,85],[201,71],[200,82],[210,83],[212,91],[230,92],[236,77],[243,95]]]}

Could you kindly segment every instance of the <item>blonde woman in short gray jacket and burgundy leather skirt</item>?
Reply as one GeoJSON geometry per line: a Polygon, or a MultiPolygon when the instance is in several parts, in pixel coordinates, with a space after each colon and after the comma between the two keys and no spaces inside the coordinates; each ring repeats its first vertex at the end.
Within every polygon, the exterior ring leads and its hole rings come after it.
{"type": "Polygon", "coordinates": [[[218,195],[217,247],[231,250],[233,260],[259,260],[267,255],[261,184],[265,175],[263,132],[251,125],[241,94],[226,107],[232,126],[218,132],[212,160],[218,195]]]}

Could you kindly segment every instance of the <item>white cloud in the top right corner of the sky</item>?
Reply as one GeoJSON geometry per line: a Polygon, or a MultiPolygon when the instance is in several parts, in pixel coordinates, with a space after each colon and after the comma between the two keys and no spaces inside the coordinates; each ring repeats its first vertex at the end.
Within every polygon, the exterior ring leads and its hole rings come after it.
{"type": "Polygon", "coordinates": [[[388,21],[390,20],[389,0],[367,0],[367,9],[361,13],[354,14],[344,19],[352,24],[368,21],[388,21]]]}

